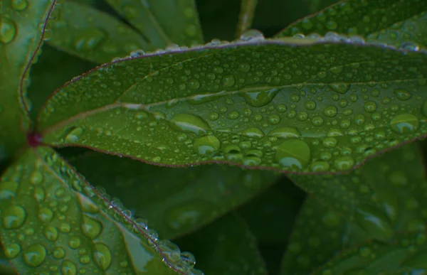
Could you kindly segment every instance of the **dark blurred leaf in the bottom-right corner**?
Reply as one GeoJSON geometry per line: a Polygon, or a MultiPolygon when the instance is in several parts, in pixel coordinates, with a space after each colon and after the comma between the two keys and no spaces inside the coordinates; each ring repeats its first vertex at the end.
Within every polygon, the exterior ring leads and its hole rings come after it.
{"type": "Polygon", "coordinates": [[[427,271],[424,232],[403,234],[391,242],[367,242],[329,261],[312,275],[423,274],[427,271]]]}

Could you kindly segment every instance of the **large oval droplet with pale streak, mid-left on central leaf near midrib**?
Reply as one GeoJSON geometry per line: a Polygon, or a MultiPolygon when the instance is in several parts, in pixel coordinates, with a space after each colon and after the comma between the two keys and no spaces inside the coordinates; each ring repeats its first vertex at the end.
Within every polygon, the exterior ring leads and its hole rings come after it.
{"type": "Polygon", "coordinates": [[[176,114],[170,121],[172,129],[194,134],[205,134],[211,129],[209,124],[194,114],[176,114]]]}

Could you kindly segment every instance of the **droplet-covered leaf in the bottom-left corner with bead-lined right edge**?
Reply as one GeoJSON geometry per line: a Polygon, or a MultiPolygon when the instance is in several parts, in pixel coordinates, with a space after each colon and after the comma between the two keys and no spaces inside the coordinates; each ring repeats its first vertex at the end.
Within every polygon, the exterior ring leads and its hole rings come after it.
{"type": "Polygon", "coordinates": [[[20,274],[194,274],[176,246],[157,241],[52,149],[28,149],[6,171],[0,208],[1,242],[20,274]]]}

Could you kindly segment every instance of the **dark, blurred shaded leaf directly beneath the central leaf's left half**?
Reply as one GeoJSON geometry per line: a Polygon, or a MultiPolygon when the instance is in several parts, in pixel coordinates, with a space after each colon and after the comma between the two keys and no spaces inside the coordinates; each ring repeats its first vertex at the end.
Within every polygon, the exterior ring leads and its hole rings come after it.
{"type": "Polygon", "coordinates": [[[167,239],[212,222],[278,178],[270,171],[217,165],[164,168],[96,152],[70,161],[91,183],[114,194],[167,239]]]}

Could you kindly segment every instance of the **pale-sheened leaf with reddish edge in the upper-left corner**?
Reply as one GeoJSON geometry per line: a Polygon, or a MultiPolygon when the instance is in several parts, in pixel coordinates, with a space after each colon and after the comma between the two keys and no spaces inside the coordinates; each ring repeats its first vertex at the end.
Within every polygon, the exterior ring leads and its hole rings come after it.
{"type": "Polygon", "coordinates": [[[31,109],[26,78],[41,45],[38,24],[43,26],[52,5],[53,0],[0,2],[0,151],[6,154],[25,141],[22,131],[29,127],[31,109]]]}

